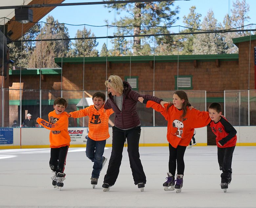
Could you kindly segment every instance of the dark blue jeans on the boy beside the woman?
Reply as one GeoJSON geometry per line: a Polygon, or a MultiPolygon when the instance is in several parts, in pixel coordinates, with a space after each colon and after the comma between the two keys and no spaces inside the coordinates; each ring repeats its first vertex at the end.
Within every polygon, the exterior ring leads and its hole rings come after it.
{"type": "Polygon", "coordinates": [[[104,153],[105,145],[106,140],[95,141],[90,139],[89,137],[87,139],[85,150],[86,157],[89,158],[92,162],[94,162],[92,178],[99,178],[99,172],[102,169],[102,156],[104,153]]]}

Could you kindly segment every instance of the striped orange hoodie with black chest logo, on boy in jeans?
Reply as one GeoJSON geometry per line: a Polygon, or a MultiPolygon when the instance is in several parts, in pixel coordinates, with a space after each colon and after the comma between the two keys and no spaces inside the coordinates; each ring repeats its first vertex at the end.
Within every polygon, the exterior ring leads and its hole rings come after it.
{"type": "Polygon", "coordinates": [[[112,113],[114,113],[112,109],[107,109],[104,112],[104,104],[99,110],[97,110],[94,105],[90,105],[82,110],[70,112],[71,117],[73,118],[89,116],[88,137],[95,141],[106,140],[110,137],[108,120],[112,113]]]}

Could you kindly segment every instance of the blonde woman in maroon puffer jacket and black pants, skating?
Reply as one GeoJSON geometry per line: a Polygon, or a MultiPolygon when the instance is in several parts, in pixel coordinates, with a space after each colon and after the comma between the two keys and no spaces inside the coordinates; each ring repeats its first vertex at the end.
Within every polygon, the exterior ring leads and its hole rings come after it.
{"type": "Polygon", "coordinates": [[[107,173],[104,177],[104,183],[102,185],[104,188],[103,191],[108,191],[110,186],[113,186],[117,180],[126,139],[134,183],[135,185],[138,185],[138,188],[140,188],[141,191],[143,191],[146,184],[146,176],[139,159],[139,137],[141,129],[137,112],[137,102],[139,97],[153,100],[157,103],[161,103],[162,100],[151,95],[140,95],[138,92],[132,90],[131,85],[128,82],[123,82],[117,75],[111,75],[105,82],[105,85],[110,93],[104,108],[112,108],[116,117],[114,122],[115,125],[112,127],[112,152],[107,173]]]}

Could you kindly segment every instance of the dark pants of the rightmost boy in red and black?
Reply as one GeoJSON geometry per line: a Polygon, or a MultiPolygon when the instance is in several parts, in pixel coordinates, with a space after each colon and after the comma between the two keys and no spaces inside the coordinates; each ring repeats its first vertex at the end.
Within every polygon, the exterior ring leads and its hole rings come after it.
{"type": "Polygon", "coordinates": [[[218,162],[219,166],[223,167],[223,173],[232,173],[231,164],[233,152],[236,146],[233,147],[217,147],[218,148],[218,162]]]}

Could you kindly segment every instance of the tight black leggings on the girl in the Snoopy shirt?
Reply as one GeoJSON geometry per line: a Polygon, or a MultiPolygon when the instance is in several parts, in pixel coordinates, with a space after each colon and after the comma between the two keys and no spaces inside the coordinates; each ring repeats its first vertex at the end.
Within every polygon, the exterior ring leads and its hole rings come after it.
{"type": "Polygon", "coordinates": [[[176,161],[177,161],[177,174],[184,175],[185,163],[184,163],[184,153],[186,146],[178,145],[174,148],[169,143],[169,172],[175,176],[176,172],[176,161]]]}

